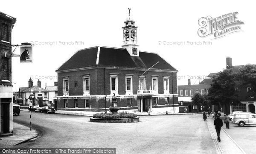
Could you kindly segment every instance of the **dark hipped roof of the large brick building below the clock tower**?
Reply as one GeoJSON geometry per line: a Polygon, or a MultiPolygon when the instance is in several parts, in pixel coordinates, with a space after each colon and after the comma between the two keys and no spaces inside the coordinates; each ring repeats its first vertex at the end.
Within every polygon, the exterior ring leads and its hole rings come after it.
{"type": "Polygon", "coordinates": [[[126,67],[150,68],[177,71],[157,53],[139,51],[139,56],[130,56],[124,48],[96,46],[78,50],[70,59],[62,64],[56,72],[84,67],[126,67]]]}

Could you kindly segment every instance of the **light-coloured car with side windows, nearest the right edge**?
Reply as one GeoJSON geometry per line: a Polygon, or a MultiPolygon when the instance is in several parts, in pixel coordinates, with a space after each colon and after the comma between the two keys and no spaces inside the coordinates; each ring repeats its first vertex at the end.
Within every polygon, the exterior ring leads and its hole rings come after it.
{"type": "Polygon", "coordinates": [[[238,126],[256,125],[256,114],[253,113],[236,113],[233,118],[233,123],[238,126]]]}

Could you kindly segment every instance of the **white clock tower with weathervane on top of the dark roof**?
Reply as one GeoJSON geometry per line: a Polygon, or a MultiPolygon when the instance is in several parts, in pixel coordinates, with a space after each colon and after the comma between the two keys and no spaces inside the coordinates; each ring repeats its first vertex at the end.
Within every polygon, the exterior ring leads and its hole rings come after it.
{"type": "Polygon", "coordinates": [[[131,8],[128,8],[129,16],[125,20],[125,26],[123,29],[123,45],[122,48],[125,48],[131,56],[139,56],[139,50],[137,45],[137,28],[135,26],[135,21],[132,20],[130,16],[131,8]]]}

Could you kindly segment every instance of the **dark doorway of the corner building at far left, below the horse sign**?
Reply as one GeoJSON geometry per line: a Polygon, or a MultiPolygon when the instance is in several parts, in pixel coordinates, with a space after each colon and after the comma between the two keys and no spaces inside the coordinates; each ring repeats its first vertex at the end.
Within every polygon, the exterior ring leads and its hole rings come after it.
{"type": "Polygon", "coordinates": [[[8,133],[9,132],[9,109],[10,103],[1,103],[1,114],[0,114],[0,121],[1,121],[1,133],[8,133]]]}

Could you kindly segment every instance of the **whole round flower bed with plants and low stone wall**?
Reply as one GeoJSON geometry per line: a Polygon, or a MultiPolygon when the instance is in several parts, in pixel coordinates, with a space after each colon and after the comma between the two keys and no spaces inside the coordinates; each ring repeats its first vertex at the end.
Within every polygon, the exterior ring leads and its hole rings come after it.
{"type": "Polygon", "coordinates": [[[119,112],[113,113],[97,113],[90,118],[91,122],[99,123],[137,123],[140,122],[140,117],[134,113],[119,112]]]}

